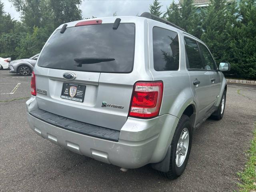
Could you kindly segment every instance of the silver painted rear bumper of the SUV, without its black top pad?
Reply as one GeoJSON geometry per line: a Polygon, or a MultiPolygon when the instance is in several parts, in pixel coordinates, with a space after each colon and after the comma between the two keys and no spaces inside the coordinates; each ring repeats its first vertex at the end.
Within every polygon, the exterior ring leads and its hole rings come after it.
{"type": "Polygon", "coordinates": [[[162,115],[150,120],[128,118],[117,142],[72,132],[46,123],[29,112],[36,110],[36,97],[26,102],[30,128],[68,150],[124,168],[160,162],[172,140],[178,118],[162,115]]]}

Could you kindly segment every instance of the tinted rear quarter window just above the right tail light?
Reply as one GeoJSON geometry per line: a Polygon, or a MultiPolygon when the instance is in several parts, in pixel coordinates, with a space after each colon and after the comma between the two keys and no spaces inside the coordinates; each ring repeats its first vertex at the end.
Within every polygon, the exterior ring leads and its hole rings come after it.
{"type": "Polygon", "coordinates": [[[156,71],[178,70],[180,60],[178,34],[167,29],[154,27],[153,57],[156,71]]]}

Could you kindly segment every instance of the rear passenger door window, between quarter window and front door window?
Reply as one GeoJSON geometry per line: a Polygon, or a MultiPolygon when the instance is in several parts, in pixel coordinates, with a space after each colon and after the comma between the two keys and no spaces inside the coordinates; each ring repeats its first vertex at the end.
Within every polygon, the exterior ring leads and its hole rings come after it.
{"type": "Polygon", "coordinates": [[[190,38],[185,39],[185,48],[187,54],[188,68],[203,69],[203,62],[196,41],[190,38]]]}

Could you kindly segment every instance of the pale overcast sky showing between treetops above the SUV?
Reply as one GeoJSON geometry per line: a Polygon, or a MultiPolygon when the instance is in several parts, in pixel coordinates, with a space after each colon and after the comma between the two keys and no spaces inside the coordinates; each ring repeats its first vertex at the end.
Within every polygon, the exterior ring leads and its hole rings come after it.
{"type": "MultiPolygon", "coordinates": [[[[4,2],[4,11],[10,13],[12,18],[20,20],[20,14],[16,12],[8,0],[4,2]]],[[[178,0],[176,0],[178,1],[178,0]]],[[[153,0],[84,0],[80,9],[83,18],[112,16],[114,12],[118,16],[136,16],[148,12],[149,5],[153,0]]],[[[162,4],[161,11],[166,11],[166,6],[172,3],[172,0],[160,0],[162,4]]]]}

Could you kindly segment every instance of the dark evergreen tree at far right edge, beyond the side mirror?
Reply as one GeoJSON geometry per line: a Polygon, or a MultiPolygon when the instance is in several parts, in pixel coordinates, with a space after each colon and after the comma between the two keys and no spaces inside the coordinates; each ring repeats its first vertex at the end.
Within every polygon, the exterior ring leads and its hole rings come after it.
{"type": "MultiPolygon", "coordinates": [[[[237,15],[237,14],[236,14],[237,15]]],[[[241,0],[238,19],[229,27],[228,61],[240,78],[256,79],[256,0],[241,0]]]]}

